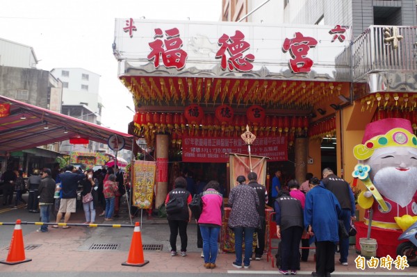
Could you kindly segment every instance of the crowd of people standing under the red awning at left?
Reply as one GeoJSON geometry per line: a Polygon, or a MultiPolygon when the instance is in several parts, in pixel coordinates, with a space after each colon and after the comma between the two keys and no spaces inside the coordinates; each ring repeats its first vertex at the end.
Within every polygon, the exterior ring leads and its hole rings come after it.
{"type": "MultiPolygon", "coordinates": [[[[13,209],[18,208],[19,202],[28,212],[40,213],[42,222],[49,223],[51,213],[55,207],[57,211],[56,224],[51,228],[58,228],[58,223],[63,218],[64,224],[70,220],[71,214],[76,212],[77,199],[80,199],[85,213],[85,224],[94,224],[96,209],[101,208],[99,216],[111,221],[119,217],[120,199],[129,192],[129,184],[124,184],[123,171],[116,166],[102,168],[97,171],[88,169],[82,171],[73,165],[67,165],[60,169],[59,164],[54,164],[52,169],[33,169],[27,181],[24,181],[21,170],[8,168],[2,174],[3,205],[10,206],[15,202],[13,209]],[[28,201],[24,201],[22,194],[28,192],[28,201]]],[[[63,225],[63,229],[71,228],[63,225]]],[[[48,231],[48,225],[44,224],[37,230],[40,233],[48,231]]]]}

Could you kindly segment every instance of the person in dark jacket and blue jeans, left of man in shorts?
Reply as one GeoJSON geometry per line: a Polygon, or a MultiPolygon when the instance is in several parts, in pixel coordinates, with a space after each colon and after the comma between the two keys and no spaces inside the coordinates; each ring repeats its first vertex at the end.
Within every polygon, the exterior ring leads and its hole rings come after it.
{"type": "MultiPolygon", "coordinates": [[[[51,169],[46,168],[43,170],[42,180],[38,187],[39,192],[39,207],[40,217],[43,223],[49,223],[52,206],[54,205],[54,194],[56,183],[51,176],[51,169]]],[[[36,232],[45,233],[48,231],[47,225],[42,225],[36,232]]]]}

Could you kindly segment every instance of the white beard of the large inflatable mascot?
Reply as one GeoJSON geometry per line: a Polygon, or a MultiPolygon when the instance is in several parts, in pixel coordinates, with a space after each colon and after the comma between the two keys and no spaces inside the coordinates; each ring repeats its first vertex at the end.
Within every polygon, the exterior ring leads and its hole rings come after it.
{"type": "Polygon", "coordinates": [[[382,196],[404,208],[417,190],[417,168],[399,171],[395,167],[385,167],[377,171],[373,181],[382,196]]]}

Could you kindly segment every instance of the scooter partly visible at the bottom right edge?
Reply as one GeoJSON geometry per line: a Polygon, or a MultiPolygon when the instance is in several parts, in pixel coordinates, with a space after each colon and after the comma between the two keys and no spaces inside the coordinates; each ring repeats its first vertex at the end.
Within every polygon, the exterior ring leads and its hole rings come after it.
{"type": "Polygon", "coordinates": [[[397,255],[406,256],[409,265],[417,266],[417,221],[407,230],[404,230],[398,240],[409,241],[402,242],[397,246],[397,255]]]}

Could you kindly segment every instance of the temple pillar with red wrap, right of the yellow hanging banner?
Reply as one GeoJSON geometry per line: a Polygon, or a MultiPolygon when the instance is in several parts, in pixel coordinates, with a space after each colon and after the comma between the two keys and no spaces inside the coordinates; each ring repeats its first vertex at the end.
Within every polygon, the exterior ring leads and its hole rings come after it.
{"type": "Polygon", "coordinates": [[[165,202],[168,190],[168,135],[156,135],[156,190],[155,208],[165,202]]]}

